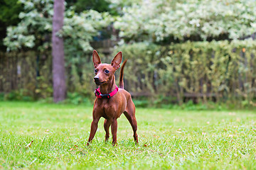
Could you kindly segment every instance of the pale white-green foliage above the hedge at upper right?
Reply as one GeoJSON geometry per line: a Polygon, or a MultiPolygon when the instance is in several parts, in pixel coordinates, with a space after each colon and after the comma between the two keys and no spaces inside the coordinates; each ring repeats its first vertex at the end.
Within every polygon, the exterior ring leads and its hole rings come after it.
{"type": "Polygon", "coordinates": [[[114,27],[134,41],[240,39],[255,33],[256,1],[141,1],[124,7],[114,27]]]}

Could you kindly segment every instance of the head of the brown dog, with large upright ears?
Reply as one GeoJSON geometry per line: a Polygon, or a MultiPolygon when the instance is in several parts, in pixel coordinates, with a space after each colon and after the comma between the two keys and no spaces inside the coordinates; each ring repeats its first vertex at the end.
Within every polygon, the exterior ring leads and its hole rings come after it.
{"type": "Polygon", "coordinates": [[[93,50],[92,62],[95,67],[95,84],[98,86],[107,84],[108,81],[113,79],[114,72],[117,71],[117,69],[120,67],[120,63],[122,62],[122,52],[117,53],[111,64],[102,64],[97,51],[93,50]]]}

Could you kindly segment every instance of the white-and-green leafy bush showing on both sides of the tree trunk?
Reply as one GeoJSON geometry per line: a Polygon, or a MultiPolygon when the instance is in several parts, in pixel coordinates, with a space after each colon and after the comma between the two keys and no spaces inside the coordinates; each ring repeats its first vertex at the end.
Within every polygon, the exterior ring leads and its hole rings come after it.
{"type": "MultiPolygon", "coordinates": [[[[19,14],[21,22],[18,26],[7,29],[4,39],[7,50],[19,50],[24,47],[48,50],[52,31],[53,0],[21,0],[21,3],[25,12],[19,14]]],[[[59,33],[59,36],[64,37],[66,54],[78,50],[92,50],[90,40],[98,34],[99,29],[108,26],[111,21],[108,13],[90,10],[78,14],[72,8],[66,9],[63,30],[59,33]]]]}

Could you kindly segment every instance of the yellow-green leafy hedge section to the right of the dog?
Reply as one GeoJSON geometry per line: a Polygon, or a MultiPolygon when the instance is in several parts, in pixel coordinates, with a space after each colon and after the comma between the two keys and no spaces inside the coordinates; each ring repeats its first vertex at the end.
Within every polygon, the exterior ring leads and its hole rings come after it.
{"type": "MultiPolygon", "coordinates": [[[[256,41],[185,42],[160,46],[122,45],[129,59],[124,71],[132,94],[153,96],[157,103],[244,101],[256,94],[256,41]],[[157,100],[156,100],[157,99],[157,100]]],[[[114,55],[114,54],[113,54],[114,55]]]]}

